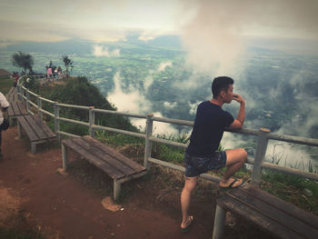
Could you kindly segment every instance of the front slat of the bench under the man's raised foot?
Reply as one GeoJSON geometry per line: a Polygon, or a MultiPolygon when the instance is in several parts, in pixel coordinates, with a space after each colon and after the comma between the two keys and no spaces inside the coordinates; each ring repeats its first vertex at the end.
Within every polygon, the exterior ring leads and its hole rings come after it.
{"type": "Polygon", "coordinates": [[[305,237],[295,234],[281,224],[277,224],[273,220],[270,220],[267,216],[259,214],[248,205],[233,200],[230,196],[221,196],[217,199],[217,204],[226,210],[234,212],[234,214],[240,214],[243,218],[246,218],[253,224],[259,225],[264,230],[269,231],[278,237],[285,239],[305,239],[305,237]]]}

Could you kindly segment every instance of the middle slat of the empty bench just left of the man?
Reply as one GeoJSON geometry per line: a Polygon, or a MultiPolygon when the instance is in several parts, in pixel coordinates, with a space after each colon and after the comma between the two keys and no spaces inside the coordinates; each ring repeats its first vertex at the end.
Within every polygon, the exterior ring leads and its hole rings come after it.
{"type": "MultiPolygon", "coordinates": [[[[90,143],[84,141],[83,138],[74,138],[73,141],[75,141],[77,144],[80,144],[85,150],[89,151],[91,154],[94,154],[96,157],[104,161],[106,164],[110,164],[113,168],[115,168],[122,174],[131,175],[138,173],[134,171],[134,169],[128,167],[126,164],[123,164],[122,162],[116,160],[114,157],[106,154],[106,152],[104,152],[101,148],[96,147],[95,145],[98,144],[99,141],[95,139],[93,139],[90,143]],[[93,142],[95,144],[92,144],[93,142]]],[[[127,158],[126,161],[130,161],[130,159],[127,158]]]]}

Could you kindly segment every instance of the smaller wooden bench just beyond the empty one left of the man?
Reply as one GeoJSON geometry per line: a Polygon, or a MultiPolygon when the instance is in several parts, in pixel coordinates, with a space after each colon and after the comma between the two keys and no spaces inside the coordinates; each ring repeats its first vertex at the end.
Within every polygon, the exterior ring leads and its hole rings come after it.
{"type": "Polygon", "coordinates": [[[56,135],[41,120],[39,115],[17,116],[18,135],[21,138],[22,128],[31,141],[31,152],[36,153],[36,144],[43,144],[56,140],[56,135]]]}

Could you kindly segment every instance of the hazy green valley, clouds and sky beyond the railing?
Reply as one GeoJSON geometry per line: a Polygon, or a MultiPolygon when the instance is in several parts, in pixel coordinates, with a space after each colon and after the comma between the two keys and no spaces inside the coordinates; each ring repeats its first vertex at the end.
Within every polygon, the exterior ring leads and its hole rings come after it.
{"type": "MultiPolygon", "coordinates": [[[[317,12],[315,0],[4,0],[0,68],[20,71],[11,55],[22,51],[45,72],[66,54],[72,74],[86,75],[119,111],[186,120],[211,98],[214,77],[229,75],[246,99],[245,127],[318,138],[317,12]]],[[[224,108],[236,115],[238,105],[224,108]]],[[[157,132],[188,130],[164,124],[157,132]]],[[[253,139],[226,134],[223,144],[244,141],[253,139]]],[[[317,160],[315,151],[277,148],[317,160]]]]}

